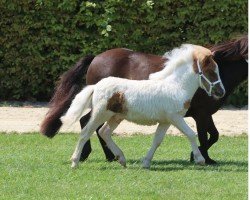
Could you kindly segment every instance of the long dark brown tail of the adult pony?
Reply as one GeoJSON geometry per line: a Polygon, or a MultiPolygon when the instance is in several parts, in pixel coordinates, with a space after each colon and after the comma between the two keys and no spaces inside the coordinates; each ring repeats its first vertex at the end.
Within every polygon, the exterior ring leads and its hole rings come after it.
{"type": "Polygon", "coordinates": [[[43,120],[40,132],[47,137],[54,137],[62,126],[60,117],[68,110],[73,98],[82,88],[83,75],[95,56],[80,59],[74,67],[65,72],[56,87],[49,103],[49,111],[43,120]]]}

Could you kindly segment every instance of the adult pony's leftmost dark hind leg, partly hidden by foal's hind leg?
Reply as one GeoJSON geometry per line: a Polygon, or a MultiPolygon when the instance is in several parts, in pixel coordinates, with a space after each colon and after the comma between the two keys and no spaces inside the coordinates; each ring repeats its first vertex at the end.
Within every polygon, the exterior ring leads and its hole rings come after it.
{"type": "MultiPolygon", "coordinates": [[[[89,119],[91,116],[91,112],[89,112],[87,115],[83,116],[80,119],[80,125],[81,125],[81,130],[86,126],[86,124],[88,123],[89,119]]],[[[92,148],[91,148],[91,143],[90,140],[88,140],[85,145],[83,146],[82,149],[82,153],[81,153],[81,157],[80,157],[80,161],[85,161],[88,157],[89,154],[91,153],[92,148]]]]}

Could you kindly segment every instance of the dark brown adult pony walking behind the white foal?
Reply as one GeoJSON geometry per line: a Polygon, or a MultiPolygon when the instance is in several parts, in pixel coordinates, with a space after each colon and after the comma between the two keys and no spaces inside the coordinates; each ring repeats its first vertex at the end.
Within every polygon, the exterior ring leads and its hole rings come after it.
{"type": "MultiPolygon", "coordinates": [[[[216,129],[212,115],[225,102],[226,97],[248,76],[248,37],[231,40],[210,48],[214,51],[214,59],[218,63],[220,77],[226,89],[226,95],[220,100],[214,100],[206,92],[198,89],[191,106],[186,113],[187,117],[193,117],[196,121],[200,150],[207,164],[216,163],[208,155],[208,149],[218,141],[219,132],[216,129]],[[210,137],[208,138],[208,133],[210,137]]],[[[50,109],[42,122],[41,133],[47,137],[53,137],[59,131],[62,123],[60,117],[69,108],[72,99],[79,92],[81,80],[85,70],[86,83],[96,84],[108,76],[115,76],[127,79],[142,80],[148,79],[149,74],[157,72],[164,67],[167,60],[163,56],[134,52],[129,49],[111,49],[97,56],[87,56],[81,59],[73,68],[65,72],[56,88],[55,94],[50,102],[50,109]]],[[[90,114],[81,118],[81,127],[84,127],[89,120],[90,114]]],[[[99,129],[98,129],[99,130],[99,129]]],[[[97,130],[97,133],[98,133],[97,130]]],[[[114,155],[106,147],[105,142],[100,138],[102,148],[107,160],[114,160],[114,155]]],[[[83,148],[81,160],[85,160],[91,152],[90,141],[83,148]]],[[[192,154],[191,154],[192,160],[192,154]]]]}

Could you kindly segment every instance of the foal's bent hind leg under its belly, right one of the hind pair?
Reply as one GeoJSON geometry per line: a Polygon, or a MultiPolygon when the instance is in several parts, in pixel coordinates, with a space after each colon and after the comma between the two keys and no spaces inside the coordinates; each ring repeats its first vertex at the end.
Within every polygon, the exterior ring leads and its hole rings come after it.
{"type": "Polygon", "coordinates": [[[126,159],[122,152],[122,150],[115,144],[115,142],[111,138],[111,133],[116,129],[116,127],[119,125],[119,123],[122,120],[116,119],[115,117],[112,117],[109,121],[107,121],[103,127],[100,129],[99,134],[102,137],[102,139],[106,142],[109,149],[114,154],[115,158],[118,160],[118,162],[126,167],[126,159]]]}

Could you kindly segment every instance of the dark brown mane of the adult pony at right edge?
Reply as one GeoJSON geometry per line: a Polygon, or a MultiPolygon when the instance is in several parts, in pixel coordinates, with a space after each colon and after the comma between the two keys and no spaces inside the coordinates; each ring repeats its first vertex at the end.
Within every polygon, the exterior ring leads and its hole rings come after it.
{"type": "Polygon", "coordinates": [[[214,45],[210,49],[216,60],[248,59],[248,36],[214,45]]]}

